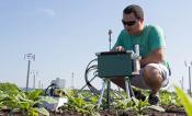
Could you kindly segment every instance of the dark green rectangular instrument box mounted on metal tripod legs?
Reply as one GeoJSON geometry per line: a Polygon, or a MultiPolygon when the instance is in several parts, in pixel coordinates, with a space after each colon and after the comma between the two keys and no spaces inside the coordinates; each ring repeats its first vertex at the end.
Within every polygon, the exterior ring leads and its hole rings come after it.
{"type": "Polygon", "coordinates": [[[100,78],[128,77],[133,72],[133,51],[99,53],[98,74],[100,78]]]}

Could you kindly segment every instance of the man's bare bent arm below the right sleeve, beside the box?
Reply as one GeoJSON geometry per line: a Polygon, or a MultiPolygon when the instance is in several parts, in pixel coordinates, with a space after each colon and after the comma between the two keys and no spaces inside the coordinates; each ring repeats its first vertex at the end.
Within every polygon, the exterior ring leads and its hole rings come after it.
{"type": "Polygon", "coordinates": [[[155,62],[155,63],[160,63],[165,59],[165,48],[158,48],[151,51],[150,55],[148,55],[145,58],[142,58],[140,60],[140,66],[145,67],[148,63],[155,62]]]}

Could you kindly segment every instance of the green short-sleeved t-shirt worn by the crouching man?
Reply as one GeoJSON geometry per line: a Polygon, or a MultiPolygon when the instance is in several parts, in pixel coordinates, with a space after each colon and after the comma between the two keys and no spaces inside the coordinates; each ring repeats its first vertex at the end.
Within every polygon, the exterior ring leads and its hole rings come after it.
{"type": "MultiPolygon", "coordinates": [[[[114,47],[123,46],[126,50],[134,50],[135,45],[138,44],[139,54],[143,58],[145,58],[157,48],[166,48],[165,38],[166,36],[163,31],[159,26],[145,25],[140,35],[129,35],[125,30],[123,30],[118,35],[114,47]]],[[[168,67],[168,62],[166,60],[163,61],[163,65],[168,67]]]]}

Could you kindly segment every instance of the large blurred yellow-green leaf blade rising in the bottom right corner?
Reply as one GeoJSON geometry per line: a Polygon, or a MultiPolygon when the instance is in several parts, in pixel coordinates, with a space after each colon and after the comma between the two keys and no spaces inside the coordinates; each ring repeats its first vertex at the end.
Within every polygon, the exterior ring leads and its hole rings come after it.
{"type": "Polygon", "coordinates": [[[192,102],[188,94],[185,94],[180,88],[174,86],[177,94],[181,97],[184,109],[188,116],[192,116],[192,102]]]}

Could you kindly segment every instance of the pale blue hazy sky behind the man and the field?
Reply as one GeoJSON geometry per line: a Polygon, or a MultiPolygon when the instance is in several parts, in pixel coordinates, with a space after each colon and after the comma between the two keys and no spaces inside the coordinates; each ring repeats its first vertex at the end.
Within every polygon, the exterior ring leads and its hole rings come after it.
{"type": "MultiPolygon", "coordinates": [[[[75,88],[84,84],[84,69],[95,53],[109,49],[123,28],[122,11],[128,4],[139,4],[145,23],[157,24],[167,37],[167,58],[172,68],[171,82],[184,77],[184,60],[192,60],[190,0],[0,0],[0,81],[25,86],[27,61],[24,54],[35,54],[31,69],[37,80],[48,85],[63,78],[75,88]]],[[[32,78],[30,79],[32,86],[32,78]]]]}

